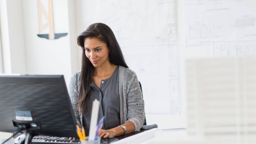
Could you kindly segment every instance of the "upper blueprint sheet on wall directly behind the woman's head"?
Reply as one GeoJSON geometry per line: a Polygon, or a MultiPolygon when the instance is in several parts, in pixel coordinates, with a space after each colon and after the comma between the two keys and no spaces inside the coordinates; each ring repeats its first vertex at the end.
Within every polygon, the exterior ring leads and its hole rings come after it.
{"type": "Polygon", "coordinates": [[[95,0],[82,3],[83,27],[92,22],[105,23],[122,46],[177,41],[175,0],[95,0]]]}

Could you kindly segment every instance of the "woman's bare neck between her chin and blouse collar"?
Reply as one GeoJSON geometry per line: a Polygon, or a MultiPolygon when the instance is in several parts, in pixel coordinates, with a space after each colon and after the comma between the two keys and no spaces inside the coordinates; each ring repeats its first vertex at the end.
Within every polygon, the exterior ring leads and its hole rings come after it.
{"type": "Polygon", "coordinates": [[[94,69],[94,76],[106,76],[106,75],[112,75],[114,70],[116,69],[117,65],[114,65],[112,63],[102,65],[101,67],[97,67],[94,69]]]}

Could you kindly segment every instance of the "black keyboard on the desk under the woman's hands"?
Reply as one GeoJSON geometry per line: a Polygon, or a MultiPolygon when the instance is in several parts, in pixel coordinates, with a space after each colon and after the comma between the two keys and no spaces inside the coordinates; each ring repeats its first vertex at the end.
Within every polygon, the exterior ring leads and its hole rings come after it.
{"type": "MultiPolygon", "coordinates": [[[[117,141],[116,137],[101,138],[101,144],[110,144],[117,141]]],[[[72,139],[68,137],[54,137],[54,136],[34,136],[32,144],[80,144],[79,139],[72,139]]]]}

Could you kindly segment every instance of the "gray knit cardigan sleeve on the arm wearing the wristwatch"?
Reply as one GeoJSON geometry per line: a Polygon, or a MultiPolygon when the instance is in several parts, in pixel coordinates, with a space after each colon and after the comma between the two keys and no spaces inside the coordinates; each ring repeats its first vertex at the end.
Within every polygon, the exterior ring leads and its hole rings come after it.
{"type": "Polygon", "coordinates": [[[144,100],[140,90],[139,81],[135,73],[128,86],[127,94],[127,120],[133,122],[135,131],[140,130],[144,124],[144,100]]]}

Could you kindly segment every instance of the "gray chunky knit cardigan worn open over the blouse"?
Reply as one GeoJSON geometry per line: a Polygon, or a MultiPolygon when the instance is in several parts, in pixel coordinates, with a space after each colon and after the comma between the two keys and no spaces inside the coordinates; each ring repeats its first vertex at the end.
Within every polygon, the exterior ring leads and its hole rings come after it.
{"type": "MultiPolygon", "coordinates": [[[[78,93],[80,88],[81,71],[75,72],[69,83],[69,96],[74,109],[76,121],[83,126],[83,115],[79,114],[78,93]]],[[[127,121],[133,122],[135,131],[140,130],[144,123],[144,101],[139,81],[135,72],[129,68],[119,66],[118,90],[120,96],[120,118],[121,124],[127,121]]]]}

